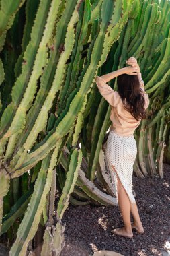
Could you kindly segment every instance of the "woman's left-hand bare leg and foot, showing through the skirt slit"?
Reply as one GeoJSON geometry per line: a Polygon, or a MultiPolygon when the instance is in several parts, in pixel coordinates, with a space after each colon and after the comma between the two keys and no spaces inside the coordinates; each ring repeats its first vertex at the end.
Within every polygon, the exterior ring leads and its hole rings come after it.
{"type": "MultiPolygon", "coordinates": [[[[116,172],[114,169],[114,166],[112,165],[113,170],[116,172]]],[[[114,234],[118,234],[121,236],[128,236],[129,238],[132,238],[133,232],[132,232],[132,226],[130,222],[130,200],[129,197],[117,175],[117,180],[118,180],[118,203],[119,203],[119,208],[120,212],[122,214],[123,222],[124,222],[124,227],[123,228],[115,228],[112,230],[114,234]]]]}

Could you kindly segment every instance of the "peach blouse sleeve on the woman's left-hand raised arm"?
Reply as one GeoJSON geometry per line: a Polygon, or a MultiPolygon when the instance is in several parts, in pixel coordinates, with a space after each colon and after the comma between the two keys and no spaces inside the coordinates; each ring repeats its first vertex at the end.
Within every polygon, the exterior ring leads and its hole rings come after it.
{"type": "Polygon", "coordinates": [[[97,75],[95,82],[100,94],[108,101],[111,106],[117,106],[119,97],[118,92],[114,91],[112,87],[106,84],[105,80],[97,75]]]}

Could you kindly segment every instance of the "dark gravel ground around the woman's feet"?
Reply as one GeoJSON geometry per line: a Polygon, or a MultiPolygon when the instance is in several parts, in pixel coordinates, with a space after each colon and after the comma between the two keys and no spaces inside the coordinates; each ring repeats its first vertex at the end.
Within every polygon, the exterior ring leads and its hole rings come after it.
{"type": "Polygon", "coordinates": [[[99,250],[124,256],[170,255],[170,165],[163,164],[163,172],[163,179],[133,176],[144,234],[133,231],[131,239],[112,234],[112,228],[123,226],[116,206],[69,205],[62,218],[66,244],[61,256],[89,256],[99,250]]]}

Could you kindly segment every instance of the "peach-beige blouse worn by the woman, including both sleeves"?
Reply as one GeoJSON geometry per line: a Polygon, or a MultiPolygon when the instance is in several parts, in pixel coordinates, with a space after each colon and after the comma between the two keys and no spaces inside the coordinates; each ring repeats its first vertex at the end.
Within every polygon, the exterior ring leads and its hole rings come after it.
{"type": "MultiPolygon", "coordinates": [[[[112,125],[110,130],[113,129],[115,133],[128,137],[134,134],[134,130],[140,125],[140,121],[136,121],[128,110],[124,109],[122,98],[119,93],[113,90],[105,80],[99,76],[96,77],[95,82],[99,89],[100,94],[108,101],[111,106],[110,120],[112,125]]],[[[145,104],[144,108],[148,108],[149,98],[148,94],[144,91],[144,86],[140,84],[140,88],[144,93],[145,104]]]]}

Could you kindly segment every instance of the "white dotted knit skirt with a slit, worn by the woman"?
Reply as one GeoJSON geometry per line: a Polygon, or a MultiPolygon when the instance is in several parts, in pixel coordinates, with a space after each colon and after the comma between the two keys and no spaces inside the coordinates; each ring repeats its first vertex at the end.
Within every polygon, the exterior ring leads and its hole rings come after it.
{"type": "Polygon", "coordinates": [[[118,177],[128,194],[130,202],[136,203],[134,195],[132,194],[132,174],[136,155],[137,145],[134,135],[125,137],[118,135],[113,130],[110,130],[105,147],[105,161],[112,177],[116,203],[118,203],[118,181],[112,165],[114,166],[118,177]]]}

